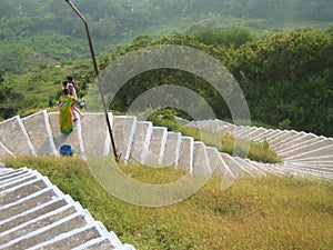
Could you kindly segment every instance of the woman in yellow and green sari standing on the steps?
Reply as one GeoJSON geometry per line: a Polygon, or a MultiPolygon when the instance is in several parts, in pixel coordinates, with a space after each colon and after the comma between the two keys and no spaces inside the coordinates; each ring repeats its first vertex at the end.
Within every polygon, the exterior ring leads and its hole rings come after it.
{"type": "Polygon", "coordinates": [[[69,90],[63,89],[61,96],[59,98],[59,126],[60,131],[62,133],[69,133],[73,130],[73,120],[72,120],[72,111],[71,106],[74,104],[75,101],[72,96],[69,96],[69,90]]]}

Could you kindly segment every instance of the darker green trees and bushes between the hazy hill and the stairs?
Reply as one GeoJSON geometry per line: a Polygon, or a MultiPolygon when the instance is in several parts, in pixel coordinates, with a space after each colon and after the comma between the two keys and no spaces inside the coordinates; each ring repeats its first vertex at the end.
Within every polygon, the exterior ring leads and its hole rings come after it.
{"type": "MultiPolygon", "coordinates": [[[[194,47],[221,60],[242,88],[253,120],[280,129],[303,130],[332,137],[333,40],[331,30],[306,29],[274,33],[262,39],[253,38],[246,31],[239,29],[215,32],[205,30],[193,36],[176,33],[159,39],[141,37],[124,49],[118,48],[101,59],[100,69],[104,69],[122,54],[153,44],[194,47]],[[208,36],[209,33],[214,36],[208,36]]],[[[14,83],[7,83],[2,71],[0,90],[4,98],[1,99],[3,103],[0,110],[1,117],[8,118],[27,108],[47,107],[49,99],[57,99],[61,80],[65,74],[73,72],[78,76],[80,94],[85,94],[93,80],[89,61],[74,64],[68,62],[60,68],[54,67],[56,64],[34,67],[31,72],[17,78],[19,79],[17,88],[14,83]],[[17,101],[13,103],[9,100],[17,101]]],[[[174,82],[204,97],[218,118],[231,119],[223,98],[210,84],[192,73],[174,69],[151,70],[134,77],[117,93],[110,108],[125,112],[141,93],[157,86],[174,84],[174,82]]]]}

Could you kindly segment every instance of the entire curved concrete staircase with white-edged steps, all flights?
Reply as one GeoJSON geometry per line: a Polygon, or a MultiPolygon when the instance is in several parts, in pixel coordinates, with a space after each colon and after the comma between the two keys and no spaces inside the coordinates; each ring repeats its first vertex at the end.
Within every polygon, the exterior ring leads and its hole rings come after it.
{"type": "MultiPolygon", "coordinates": [[[[63,143],[73,147],[74,156],[111,154],[103,113],[84,113],[70,134],[61,134],[58,112],[46,110],[26,118],[0,122],[0,161],[6,154],[59,157],[63,143]]],[[[333,140],[312,133],[268,130],[206,120],[186,126],[218,131],[236,138],[269,141],[283,163],[268,164],[219,152],[216,148],[184,137],[135,117],[109,113],[117,150],[121,160],[150,166],[168,166],[200,176],[240,174],[250,177],[289,174],[333,179],[333,140]]],[[[21,168],[0,166],[0,249],[134,249],[123,244],[113,232],[94,221],[89,212],[63,194],[46,177],[21,168]]]]}

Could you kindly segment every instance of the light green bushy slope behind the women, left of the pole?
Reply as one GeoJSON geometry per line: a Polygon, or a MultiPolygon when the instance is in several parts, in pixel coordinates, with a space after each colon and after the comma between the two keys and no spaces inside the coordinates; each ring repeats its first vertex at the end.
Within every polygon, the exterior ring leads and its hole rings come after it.
{"type": "Polygon", "coordinates": [[[62,81],[67,76],[78,76],[79,96],[84,96],[88,84],[92,82],[93,71],[89,61],[67,61],[39,63],[14,80],[4,71],[0,71],[0,120],[14,114],[26,116],[56,104],[62,81]]]}

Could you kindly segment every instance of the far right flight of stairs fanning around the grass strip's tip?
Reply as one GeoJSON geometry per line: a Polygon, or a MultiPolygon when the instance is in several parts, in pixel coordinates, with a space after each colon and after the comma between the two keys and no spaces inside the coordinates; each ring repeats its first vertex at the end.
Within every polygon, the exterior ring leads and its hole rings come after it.
{"type": "Polygon", "coordinates": [[[261,163],[239,159],[246,169],[256,167],[266,173],[289,174],[315,179],[333,179],[333,139],[294,130],[273,130],[249,126],[234,126],[221,120],[186,123],[201,130],[255,142],[269,142],[270,149],[283,160],[282,163],[261,163]],[[245,163],[244,163],[245,162],[245,163]]]}

